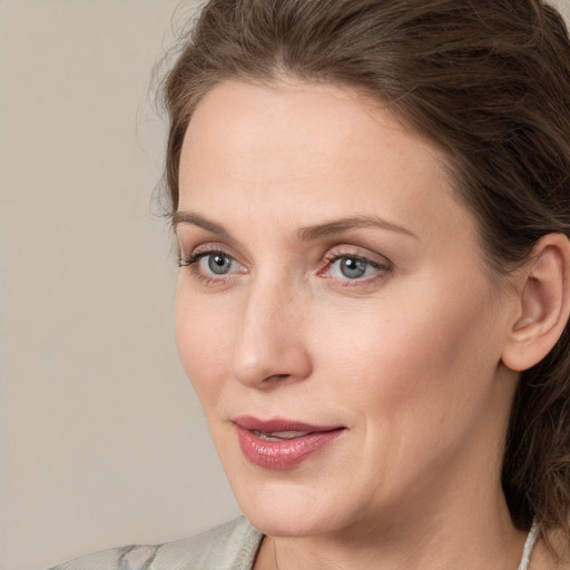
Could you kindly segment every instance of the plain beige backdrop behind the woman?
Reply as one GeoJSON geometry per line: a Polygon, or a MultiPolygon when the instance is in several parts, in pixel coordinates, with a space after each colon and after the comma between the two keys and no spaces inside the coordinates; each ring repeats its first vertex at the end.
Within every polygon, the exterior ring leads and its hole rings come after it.
{"type": "Polygon", "coordinates": [[[178,4],[0,0],[0,570],[238,512],[178,364],[151,215],[149,76],[178,4]]]}

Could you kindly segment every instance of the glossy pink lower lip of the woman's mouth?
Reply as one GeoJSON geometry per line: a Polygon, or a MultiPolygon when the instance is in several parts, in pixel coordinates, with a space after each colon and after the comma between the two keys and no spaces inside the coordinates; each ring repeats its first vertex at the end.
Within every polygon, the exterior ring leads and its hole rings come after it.
{"type": "Polygon", "coordinates": [[[262,440],[255,433],[236,425],[242,453],[254,465],[264,469],[293,469],[331,445],[345,430],[312,432],[301,438],[281,441],[262,440]]]}

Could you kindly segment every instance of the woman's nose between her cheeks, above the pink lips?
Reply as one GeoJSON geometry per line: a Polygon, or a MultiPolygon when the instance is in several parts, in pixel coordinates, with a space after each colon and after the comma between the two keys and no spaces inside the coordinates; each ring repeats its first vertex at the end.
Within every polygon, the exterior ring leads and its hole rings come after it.
{"type": "Polygon", "coordinates": [[[253,285],[235,336],[235,379],[246,386],[265,390],[309,376],[312,361],[303,335],[305,318],[302,295],[293,286],[253,285]]]}

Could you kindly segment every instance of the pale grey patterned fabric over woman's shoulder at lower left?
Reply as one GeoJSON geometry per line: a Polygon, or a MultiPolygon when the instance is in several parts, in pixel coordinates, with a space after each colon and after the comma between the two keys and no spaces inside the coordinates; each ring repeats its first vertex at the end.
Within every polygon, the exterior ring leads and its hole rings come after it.
{"type": "Polygon", "coordinates": [[[262,539],[240,517],[187,539],[102,550],[50,570],[250,570],[262,539]]]}

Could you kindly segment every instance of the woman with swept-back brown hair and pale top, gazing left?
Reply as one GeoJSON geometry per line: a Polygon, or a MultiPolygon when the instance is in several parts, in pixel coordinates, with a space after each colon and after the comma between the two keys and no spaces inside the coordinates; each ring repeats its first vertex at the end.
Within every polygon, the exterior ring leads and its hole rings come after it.
{"type": "Polygon", "coordinates": [[[178,347],[245,519],[58,568],[570,568],[558,12],[212,0],[164,94],[178,347]]]}

